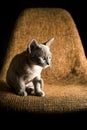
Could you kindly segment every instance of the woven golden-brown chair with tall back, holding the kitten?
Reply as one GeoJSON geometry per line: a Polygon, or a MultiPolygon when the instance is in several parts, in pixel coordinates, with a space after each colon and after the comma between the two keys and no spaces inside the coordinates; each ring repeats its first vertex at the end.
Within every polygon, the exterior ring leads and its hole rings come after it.
{"type": "Polygon", "coordinates": [[[87,60],[75,22],[61,8],[24,9],[15,22],[0,73],[0,108],[27,113],[66,113],[87,108],[87,60]],[[52,67],[42,72],[45,97],[21,97],[6,84],[11,59],[33,38],[39,43],[54,37],[52,67]]]}

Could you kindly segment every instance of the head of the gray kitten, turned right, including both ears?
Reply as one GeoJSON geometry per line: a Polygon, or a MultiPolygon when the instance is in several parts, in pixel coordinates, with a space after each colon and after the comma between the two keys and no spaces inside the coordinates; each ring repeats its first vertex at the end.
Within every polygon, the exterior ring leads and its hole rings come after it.
{"type": "Polygon", "coordinates": [[[52,54],[50,52],[50,45],[54,41],[51,38],[45,43],[39,44],[35,39],[29,43],[28,53],[32,61],[43,68],[51,65],[52,54]]]}

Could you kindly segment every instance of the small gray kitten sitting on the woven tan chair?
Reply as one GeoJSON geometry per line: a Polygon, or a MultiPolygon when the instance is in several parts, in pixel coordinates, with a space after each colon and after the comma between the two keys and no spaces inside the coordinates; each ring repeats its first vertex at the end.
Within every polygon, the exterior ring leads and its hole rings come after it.
{"type": "Polygon", "coordinates": [[[54,38],[51,38],[47,42],[39,44],[33,39],[27,50],[12,59],[7,70],[6,80],[18,95],[45,96],[41,71],[51,64],[50,45],[53,40],[54,38]]]}

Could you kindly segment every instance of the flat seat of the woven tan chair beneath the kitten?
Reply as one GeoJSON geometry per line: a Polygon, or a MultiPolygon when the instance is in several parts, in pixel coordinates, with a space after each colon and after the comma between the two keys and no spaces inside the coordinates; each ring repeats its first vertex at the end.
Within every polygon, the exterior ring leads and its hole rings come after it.
{"type": "Polygon", "coordinates": [[[12,112],[71,113],[86,110],[87,87],[75,84],[46,84],[45,97],[20,97],[2,83],[0,108],[12,112]]]}

